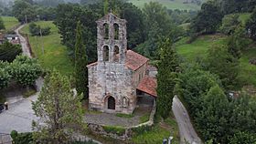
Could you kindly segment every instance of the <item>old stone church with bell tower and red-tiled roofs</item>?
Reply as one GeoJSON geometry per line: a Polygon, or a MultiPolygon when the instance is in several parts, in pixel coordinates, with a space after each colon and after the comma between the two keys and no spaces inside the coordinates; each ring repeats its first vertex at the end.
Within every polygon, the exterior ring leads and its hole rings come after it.
{"type": "Polygon", "coordinates": [[[126,20],[110,13],[96,23],[98,61],[87,66],[89,108],[131,114],[138,91],[156,98],[156,80],[146,75],[149,59],[127,50],[126,20]]]}

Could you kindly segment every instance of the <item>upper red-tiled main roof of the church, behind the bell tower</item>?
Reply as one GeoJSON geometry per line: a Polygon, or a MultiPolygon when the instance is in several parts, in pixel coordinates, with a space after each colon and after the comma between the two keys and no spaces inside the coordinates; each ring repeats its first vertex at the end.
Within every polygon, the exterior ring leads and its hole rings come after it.
{"type": "MultiPolygon", "coordinates": [[[[127,50],[125,66],[135,71],[139,67],[142,67],[148,60],[149,59],[147,57],[135,53],[133,50],[127,50]]],[[[87,67],[95,65],[97,65],[97,62],[91,63],[87,67]]]]}

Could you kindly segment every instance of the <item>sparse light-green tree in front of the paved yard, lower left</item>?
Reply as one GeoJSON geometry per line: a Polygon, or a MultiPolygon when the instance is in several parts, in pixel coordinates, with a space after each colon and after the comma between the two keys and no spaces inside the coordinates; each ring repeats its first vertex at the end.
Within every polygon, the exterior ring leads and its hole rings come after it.
{"type": "Polygon", "coordinates": [[[68,144],[75,126],[84,128],[81,98],[74,96],[67,77],[56,70],[48,74],[37,101],[32,103],[35,115],[43,121],[33,122],[33,139],[38,143],[68,144]]]}

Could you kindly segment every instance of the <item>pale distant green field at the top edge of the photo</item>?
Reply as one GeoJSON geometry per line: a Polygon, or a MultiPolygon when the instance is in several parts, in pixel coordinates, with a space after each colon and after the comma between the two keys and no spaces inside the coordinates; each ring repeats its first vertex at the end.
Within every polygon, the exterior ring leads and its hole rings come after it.
{"type": "Polygon", "coordinates": [[[140,8],[144,7],[145,3],[152,2],[159,2],[160,4],[164,5],[168,9],[182,9],[182,10],[199,10],[200,5],[196,4],[183,4],[185,0],[128,0],[128,2],[133,3],[140,8]]]}

